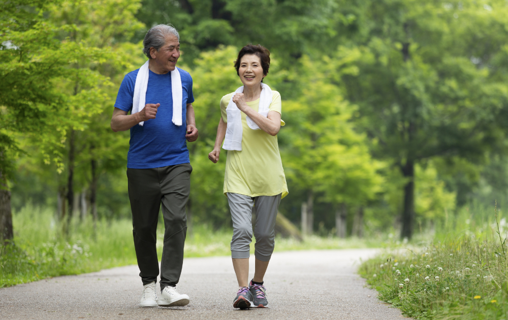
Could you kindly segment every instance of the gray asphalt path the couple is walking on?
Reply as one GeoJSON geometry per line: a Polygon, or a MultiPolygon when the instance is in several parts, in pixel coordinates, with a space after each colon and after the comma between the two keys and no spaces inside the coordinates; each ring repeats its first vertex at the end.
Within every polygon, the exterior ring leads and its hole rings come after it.
{"type": "MultiPolygon", "coordinates": [[[[265,276],[269,307],[233,308],[238,285],[230,257],[186,258],[178,291],[185,307],[140,308],[137,266],[0,289],[1,319],[400,319],[356,274],[375,250],[274,253],[265,276]]],[[[250,259],[253,275],[253,257],[250,259]]],[[[158,283],[157,283],[158,287],[158,283]]]]}

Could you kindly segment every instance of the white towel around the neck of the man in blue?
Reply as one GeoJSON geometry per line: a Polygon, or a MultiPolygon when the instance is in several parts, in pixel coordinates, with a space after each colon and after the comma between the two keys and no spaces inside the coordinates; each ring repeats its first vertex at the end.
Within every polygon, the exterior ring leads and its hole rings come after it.
{"type": "MultiPolygon", "coordinates": [[[[149,61],[149,60],[148,60],[149,61]]],[[[145,108],[146,88],[148,87],[148,61],[143,64],[136,76],[136,84],[134,85],[134,97],[132,101],[131,114],[140,112],[145,108]]],[[[182,79],[178,68],[171,72],[171,92],[173,94],[173,123],[177,126],[182,125],[182,79]]],[[[142,126],[144,121],[139,123],[142,126]]]]}

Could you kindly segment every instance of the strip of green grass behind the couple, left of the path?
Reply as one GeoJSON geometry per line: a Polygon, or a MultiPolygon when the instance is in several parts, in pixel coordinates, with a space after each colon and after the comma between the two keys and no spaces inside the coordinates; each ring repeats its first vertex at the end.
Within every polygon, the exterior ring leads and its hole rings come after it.
{"type": "MultiPolygon", "coordinates": [[[[93,232],[90,219],[75,219],[70,236],[51,209],[25,206],[13,214],[14,243],[0,246],[0,288],[46,277],[79,274],[136,264],[131,220],[98,221],[93,232]]],[[[162,254],[164,226],[158,225],[157,252],[162,254]]],[[[185,257],[229,256],[231,230],[212,230],[194,224],[187,233],[185,257]]],[[[275,251],[375,247],[378,239],[306,237],[303,242],[277,237],[275,251]]],[[[253,254],[253,243],[251,244],[253,254]]],[[[159,257],[161,258],[161,257],[159,257]]]]}

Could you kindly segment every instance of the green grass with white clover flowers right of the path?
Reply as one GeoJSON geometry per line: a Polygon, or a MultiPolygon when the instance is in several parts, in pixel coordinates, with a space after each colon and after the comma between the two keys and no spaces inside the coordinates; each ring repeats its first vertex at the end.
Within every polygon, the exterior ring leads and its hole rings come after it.
{"type": "Polygon", "coordinates": [[[506,320],[505,230],[501,220],[500,225],[484,224],[474,232],[440,234],[426,246],[399,247],[370,259],[360,274],[380,300],[410,317],[506,320]]]}

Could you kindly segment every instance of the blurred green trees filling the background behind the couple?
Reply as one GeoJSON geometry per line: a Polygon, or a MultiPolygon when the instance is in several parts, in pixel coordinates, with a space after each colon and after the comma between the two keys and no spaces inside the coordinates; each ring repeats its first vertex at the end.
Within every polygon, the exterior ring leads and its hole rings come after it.
{"type": "Polygon", "coordinates": [[[113,134],[109,121],[123,76],[145,59],[140,41],[159,23],[180,30],[179,66],[194,80],[192,224],[231,224],[226,152],[216,165],[207,154],[247,43],[272,53],[266,82],[282,96],[290,189],[280,212],[305,233],[411,238],[461,210],[508,205],[504,0],[0,4],[4,238],[11,206],[27,203],[53,208],[62,234],[73,217],[130,217],[129,133],[113,134]]]}

